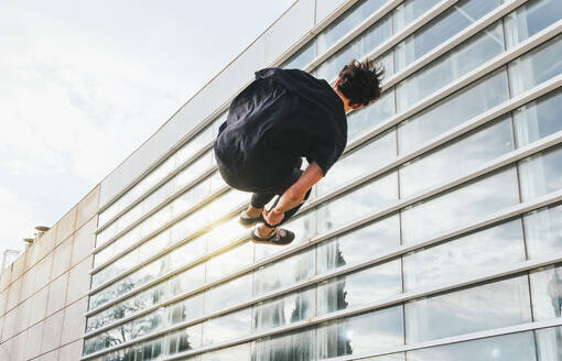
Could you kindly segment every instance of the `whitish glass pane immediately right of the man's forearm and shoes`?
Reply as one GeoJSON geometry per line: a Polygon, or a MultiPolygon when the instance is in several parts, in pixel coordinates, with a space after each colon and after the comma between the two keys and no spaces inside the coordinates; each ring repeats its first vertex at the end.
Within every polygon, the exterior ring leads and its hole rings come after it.
{"type": "Polygon", "coordinates": [[[397,172],[380,176],[318,207],[318,233],[382,210],[398,199],[397,172]]]}

